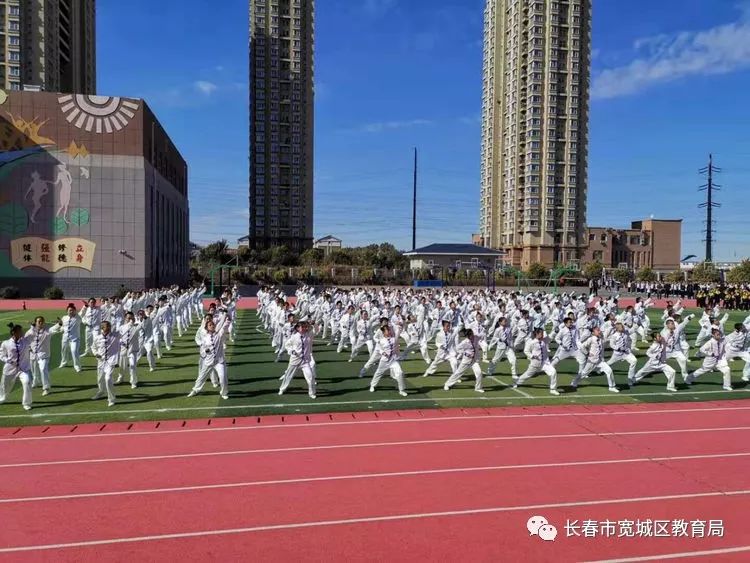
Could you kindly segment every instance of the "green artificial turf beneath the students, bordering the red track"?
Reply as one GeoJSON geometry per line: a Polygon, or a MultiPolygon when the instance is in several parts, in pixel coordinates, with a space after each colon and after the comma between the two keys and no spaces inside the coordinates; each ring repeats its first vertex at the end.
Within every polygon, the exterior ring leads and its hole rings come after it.
{"type": "MultiPolygon", "coordinates": [[[[16,322],[26,326],[36,314],[53,319],[51,311],[0,313],[0,326],[16,322]]],[[[732,330],[735,322],[741,322],[746,313],[732,313],[726,325],[732,330]]],[[[651,312],[652,328],[661,328],[661,311],[651,312]]],[[[314,355],[317,362],[317,399],[307,396],[307,387],[301,372],[298,372],[284,396],[278,395],[279,376],[286,368],[286,360],[274,363],[270,339],[258,328],[254,311],[238,314],[238,338],[229,347],[229,400],[222,400],[217,390],[207,383],[203,392],[187,398],[197,375],[197,347],[193,341],[194,330],[179,339],[175,335],[175,346],[166,353],[154,373],[150,373],[145,358],[138,370],[138,389],[123,383],[116,387],[117,404],[108,408],[106,400],[92,401],[96,387],[95,360],[82,359],[84,371],[77,374],[72,368],[57,369],[59,364],[60,337],[52,342],[53,358],[50,362],[53,392],[43,397],[41,389],[34,389],[33,410],[25,412],[20,405],[21,386],[16,383],[14,391],[5,404],[0,405],[0,426],[31,424],[72,424],[85,422],[113,422],[135,420],[165,420],[213,417],[239,417],[266,414],[299,414],[332,411],[366,411],[385,409],[425,409],[436,407],[497,407],[553,404],[611,404],[636,402],[705,401],[718,399],[749,398],[750,386],[741,381],[742,362],[732,362],[734,392],[721,388],[721,375],[717,373],[701,377],[690,389],[680,382],[677,375],[678,393],[665,390],[666,380],[662,374],[644,379],[635,388],[627,388],[627,364],[615,367],[615,377],[621,392],[610,393],[603,375],[595,375],[582,381],[577,391],[569,385],[575,375],[577,364],[565,360],[558,366],[558,385],[561,396],[549,394],[548,378],[545,375],[530,380],[518,390],[508,387],[511,383],[507,362],[501,362],[495,378],[485,377],[486,393],[474,392],[473,375],[467,373],[463,383],[446,392],[443,384],[450,375],[448,364],[432,377],[421,377],[426,366],[417,353],[402,363],[407,375],[408,397],[400,397],[395,381],[384,377],[375,393],[369,392],[369,377],[359,379],[357,373],[367,360],[366,350],[357,361],[349,363],[348,353],[336,354],[335,346],[316,341],[314,355]]],[[[692,344],[698,332],[697,319],[688,328],[688,339],[692,344]]],[[[646,344],[639,343],[636,354],[638,367],[645,362],[646,344]]],[[[694,352],[694,350],[691,350],[694,352]]],[[[430,351],[434,356],[434,351],[430,351]]],[[[610,351],[606,356],[609,357],[610,351]]],[[[522,356],[521,356],[522,357],[522,356]]],[[[690,362],[690,370],[700,365],[699,360],[690,362]]],[[[677,368],[674,360],[670,364],[677,368]]],[[[519,359],[518,370],[522,373],[526,360],[519,359]]],[[[483,364],[486,370],[486,364],[483,364]]],[[[369,372],[372,375],[372,371],[369,372]]],[[[127,377],[126,377],[127,379],[127,377]]]]}

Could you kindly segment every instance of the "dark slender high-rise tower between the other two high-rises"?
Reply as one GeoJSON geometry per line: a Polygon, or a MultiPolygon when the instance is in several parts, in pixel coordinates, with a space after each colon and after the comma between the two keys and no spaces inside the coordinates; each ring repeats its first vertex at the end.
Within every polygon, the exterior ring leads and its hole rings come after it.
{"type": "Polygon", "coordinates": [[[313,0],[250,0],[250,244],[313,242],[313,0]]]}

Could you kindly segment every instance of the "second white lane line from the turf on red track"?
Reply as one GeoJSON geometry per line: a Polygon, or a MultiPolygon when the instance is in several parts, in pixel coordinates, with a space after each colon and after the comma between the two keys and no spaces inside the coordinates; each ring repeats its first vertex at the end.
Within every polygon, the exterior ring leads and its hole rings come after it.
{"type": "Polygon", "coordinates": [[[733,426],[719,428],[680,428],[674,430],[638,430],[630,432],[586,432],[579,434],[547,434],[539,436],[516,435],[516,436],[490,436],[485,438],[445,438],[440,440],[412,440],[402,442],[371,442],[362,444],[333,444],[322,446],[296,446],[289,448],[264,448],[256,450],[228,450],[214,452],[197,452],[187,454],[164,454],[149,456],[131,456],[131,457],[109,457],[93,459],[70,459],[59,461],[34,461],[22,463],[6,463],[0,465],[0,469],[14,469],[19,467],[44,467],[53,465],[82,465],[89,463],[117,463],[132,461],[156,461],[163,459],[190,459],[198,457],[213,456],[232,456],[232,455],[253,455],[285,452],[307,452],[307,451],[325,451],[325,450],[344,450],[356,448],[387,448],[401,446],[424,446],[435,444],[460,444],[473,442],[503,442],[503,441],[520,441],[520,440],[549,440],[549,439],[570,439],[570,438],[608,438],[612,436],[652,436],[656,434],[691,434],[700,432],[733,432],[747,431],[750,426],[733,426]]]}

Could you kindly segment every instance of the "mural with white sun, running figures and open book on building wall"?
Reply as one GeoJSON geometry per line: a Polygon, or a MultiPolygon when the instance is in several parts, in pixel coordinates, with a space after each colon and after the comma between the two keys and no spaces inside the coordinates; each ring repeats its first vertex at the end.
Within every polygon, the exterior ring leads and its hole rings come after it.
{"type": "Polygon", "coordinates": [[[96,244],[86,238],[94,232],[89,206],[95,197],[101,202],[96,182],[102,169],[82,139],[70,140],[74,130],[65,122],[82,135],[116,133],[135,117],[139,104],[107,96],[53,97],[52,108],[61,116],[52,127],[44,119],[50,109],[41,119],[19,115],[17,106],[8,107],[9,99],[0,90],[0,277],[66,268],[91,272],[96,244]],[[67,133],[56,129],[62,126],[67,133]],[[56,132],[67,138],[56,142],[56,132]]]}

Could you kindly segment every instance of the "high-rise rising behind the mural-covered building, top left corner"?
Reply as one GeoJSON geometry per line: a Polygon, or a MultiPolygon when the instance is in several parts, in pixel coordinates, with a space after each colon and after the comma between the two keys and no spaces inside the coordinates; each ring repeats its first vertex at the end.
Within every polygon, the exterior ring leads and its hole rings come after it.
{"type": "Polygon", "coordinates": [[[0,87],[96,93],[95,0],[0,0],[0,87]]]}

